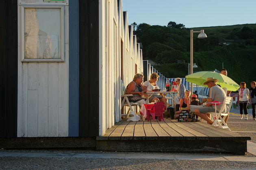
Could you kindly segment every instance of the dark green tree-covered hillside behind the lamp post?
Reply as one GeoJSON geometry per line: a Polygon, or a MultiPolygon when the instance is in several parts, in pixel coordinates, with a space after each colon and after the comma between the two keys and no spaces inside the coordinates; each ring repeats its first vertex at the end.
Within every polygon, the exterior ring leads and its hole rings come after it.
{"type": "MultiPolygon", "coordinates": [[[[165,77],[185,77],[190,62],[190,29],[204,29],[208,38],[198,39],[194,33],[194,71],[228,70],[228,77],[237,83],[256,81],[256,24],[185,28],[170,22],[168,26],[137,26],[137,41],[143,45],[143,58],[154,65],[165,77]],[[223,43],[230,43],[224,45],[223,43]]],[[[136,26],[136,25],[135,25],[136,26]]]]}

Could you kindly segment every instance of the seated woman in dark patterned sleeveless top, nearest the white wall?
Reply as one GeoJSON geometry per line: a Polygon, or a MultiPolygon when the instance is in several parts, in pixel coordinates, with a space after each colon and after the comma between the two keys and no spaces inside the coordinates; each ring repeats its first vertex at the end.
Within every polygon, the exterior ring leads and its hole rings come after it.
{"type": "Polygon", "coordinates": [[[128,100],[130,102],[137,102],[140,105],[145,104],[146,99],[142,96],[146,89],[141,85],[143,77],[144,76],[142,74],[135,74],[133,81],[127,85],[125,89],[125,94],[132,94],[132,96],[128,96],[128,100]]]}

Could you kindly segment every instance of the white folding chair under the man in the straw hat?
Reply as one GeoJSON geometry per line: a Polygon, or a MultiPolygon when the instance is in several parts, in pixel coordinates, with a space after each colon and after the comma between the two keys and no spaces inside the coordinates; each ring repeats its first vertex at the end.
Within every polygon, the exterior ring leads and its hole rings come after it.
{"type": "Polygon", "coordinates": [[[223,129],[228,129],[229,131],[231,131],[230,128],[228,127],[227,123],[225,123],[224,120],[226,119],[226,117],[229,114],[230,108],[232,106],[232,100],[233,100],[232,97],[226,96],[224,99],[223,105],[222,105],[221,109],[219,110],[219,113],[217,113],[216,107],[215,107],[215,113],[214,112],[210,113],[211,117],[214,121],[214,123],[213,123],[214,126],[219,126],[223,129]]]}

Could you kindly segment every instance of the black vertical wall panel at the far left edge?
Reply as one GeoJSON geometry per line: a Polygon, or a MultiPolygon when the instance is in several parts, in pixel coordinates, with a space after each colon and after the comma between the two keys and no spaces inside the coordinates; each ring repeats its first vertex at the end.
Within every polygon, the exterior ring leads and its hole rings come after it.
{"type": "Polygon", "coordinates": [[[17,137],[17,0],[0,0],[0,137],[17,137]]]}

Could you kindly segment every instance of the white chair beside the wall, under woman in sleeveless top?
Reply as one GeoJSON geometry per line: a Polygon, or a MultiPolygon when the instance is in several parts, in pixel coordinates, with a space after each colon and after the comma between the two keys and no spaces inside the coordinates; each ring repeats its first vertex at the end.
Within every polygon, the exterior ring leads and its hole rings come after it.
{"type": "Polygon", "coordinates": [[[122,112],[121,112],[121,116],[127,117],[129,112],[130,112],[130,110],[133,113],[135,113],[134,110],[132,109],[132,106],[140,106],[140,104],[139,103],[134,103],[134,102],[129,102],[128,96],[132,96],[132,94],[125,94],[125,89],[126,88],[124,86],[124,82],[121,80],[121,98],[122,98],[121,99],[122,100],[122,102],[121,102],[121,110],[122,110],[122,108],[124,106],[128,106],[129,107],[129,109],[128,109],[126,114],[122,114],[122,112]]]}

